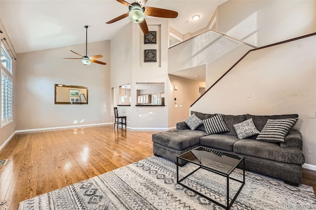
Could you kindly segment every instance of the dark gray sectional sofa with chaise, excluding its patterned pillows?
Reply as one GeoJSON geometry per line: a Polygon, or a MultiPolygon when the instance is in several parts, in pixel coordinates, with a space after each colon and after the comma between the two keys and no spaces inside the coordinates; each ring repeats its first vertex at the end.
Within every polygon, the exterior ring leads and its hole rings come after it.
{"type": "MultiPolygon", "coordinates": [[[[216,114],[204,114],[191,111],[199,119],[207,119],[216,114]]],[[[285,183],[298,185],[302,182],[302,164],[305,157],[302,152],[302,135],[291,129],[284,142],[266,142],[256,140],[257,136],[239,140],[234,124],[253,119],[260,132],[268,119],[297,118],[297,114],[289,115],[224,115],[223,120],[229,132],[206,135],[204,125],[192,131],[185,122],[178,122],[177,129],[153,134],[153,150],[161,156],[176,162],[178,155],[199,145],[225,151],[245,157],[245,168],[250,171],[281,178],[285,183]]],[[[184,165],[185,162],[179,163],[184,165]]]]}

